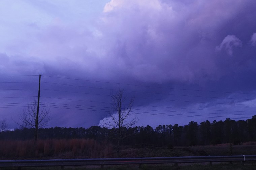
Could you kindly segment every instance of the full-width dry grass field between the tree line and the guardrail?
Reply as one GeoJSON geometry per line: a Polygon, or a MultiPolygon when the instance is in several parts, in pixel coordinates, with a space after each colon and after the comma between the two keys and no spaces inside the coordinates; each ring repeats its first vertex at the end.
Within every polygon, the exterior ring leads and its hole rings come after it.
{"type": "MultiPolygon", "coordinates": [[[[193,147],[140,147],[123,146],[120,155],[129,157],[175,157],[215,155],[256,155],[256,143],[241,145],[219,144],[193,147]],[[232,151],[232,152],[231,152],[232,151]]],[[[0,159],[73,159],[115,158],[116,150],[107,141],[93,139],[0,140],[0,159]]]]}

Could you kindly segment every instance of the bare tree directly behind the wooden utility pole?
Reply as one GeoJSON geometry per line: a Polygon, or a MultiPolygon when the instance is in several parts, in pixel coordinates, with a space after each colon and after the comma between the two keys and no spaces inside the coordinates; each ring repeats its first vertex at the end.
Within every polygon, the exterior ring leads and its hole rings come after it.
{"type": "MultiPolygon", "coordinates": [[[[37,100],[29,104],[27,109],[23,110],[20,115],[19,122],[17,123],[21,128],[33,128],[36,129],[36,116],[37,116],[37,100]]],[[[38,114],[38,129],[47,126],[50,121],[50,108],[39,104],[39,114],[38,114]]],[[[37,130],[35,130],[35,140],[37,139],[37,130]]]]}

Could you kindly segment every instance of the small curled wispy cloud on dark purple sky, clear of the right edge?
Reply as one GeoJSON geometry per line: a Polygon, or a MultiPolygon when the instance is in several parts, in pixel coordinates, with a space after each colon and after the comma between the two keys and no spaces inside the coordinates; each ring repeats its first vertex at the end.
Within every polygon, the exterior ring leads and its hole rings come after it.
{"type": "Polygon", "coordinates": [[[241,46],[242,42],[239,40],[239,38],[237,38],[235,35],[228,35],[222,40],[221,44],[216,47],[216,50],[221,51],[224,49],[229,55],[232,56],[233,48],[241,46]]]}

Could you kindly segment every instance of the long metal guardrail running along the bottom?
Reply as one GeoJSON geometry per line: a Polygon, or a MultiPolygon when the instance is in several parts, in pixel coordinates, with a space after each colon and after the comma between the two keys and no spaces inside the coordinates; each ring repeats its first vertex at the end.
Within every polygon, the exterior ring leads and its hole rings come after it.
{"type": "Polygon", "coordinates": [[[0,167],[54,167],[54,166],[85,166],[85,165],[125,165],[125,164],[170,164],[209,162],[256,161],[256,155],[235,156],[187,156],[187,157],[156,157],[156,158],[100,158],[100,159],[50,159],[50,160],[0,160],[0,167]]]}

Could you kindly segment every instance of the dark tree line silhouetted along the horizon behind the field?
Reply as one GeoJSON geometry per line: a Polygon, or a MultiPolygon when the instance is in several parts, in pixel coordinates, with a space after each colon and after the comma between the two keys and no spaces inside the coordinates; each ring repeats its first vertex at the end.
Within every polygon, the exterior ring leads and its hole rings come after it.
{"type": "MultiPolygon", "coordinates": [[[[122,127],[126,134],[120,143],[134,147],[143,146],[193,146],[221,143],[233,143],[238,145],[241,142],[256,141],[256,115],[248,120],[231,120],[210,122],[208,120],[198,124],[190,121],[187,125],[159,125],[156,128],[151,126],[122,127]]],[[[108,140],[117,144],[112,137],[116,128],[91,126],[90,128],[40,128],[39,139],[74,139],[88,138],[97,141],[108,140]]],[[[33,128],[21,128],[14,131],[0,132],[1,140],[30,140],[34,137],[33,128]]]]}

